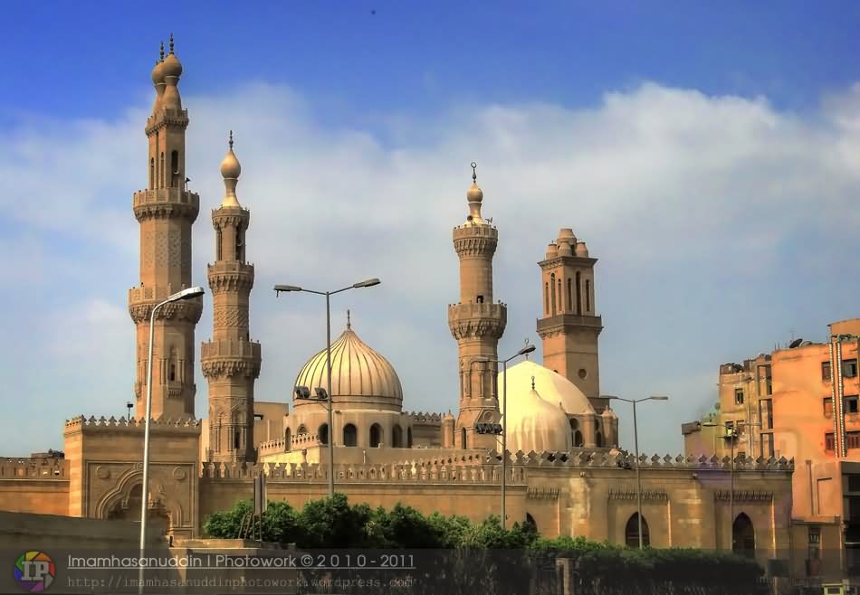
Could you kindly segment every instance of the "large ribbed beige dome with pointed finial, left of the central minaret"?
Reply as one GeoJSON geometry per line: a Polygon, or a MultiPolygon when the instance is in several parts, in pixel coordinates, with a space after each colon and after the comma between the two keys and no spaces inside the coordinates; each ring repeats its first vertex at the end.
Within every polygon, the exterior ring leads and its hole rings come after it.
{"type": "MultiPolygon", "coordinates": [[[[326,350],[311,357],[301,368],[296,386],[325,388],[341,408],[397,409],[403,402],[403,389],[394,366],[368,347],[347,323],[347,330],[331,344],[331,386],[326,373],[326,350]]],[[[296,401],[300,406],[312,401],[296,401]]]]}

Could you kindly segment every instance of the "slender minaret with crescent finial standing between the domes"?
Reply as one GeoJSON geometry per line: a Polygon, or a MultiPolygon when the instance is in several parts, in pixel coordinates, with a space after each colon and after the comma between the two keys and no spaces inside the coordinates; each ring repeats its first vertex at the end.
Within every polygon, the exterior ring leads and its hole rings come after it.
{"type": "Polygon", "coordinates": [[[499,231],[481,217],[483,192],[472,164],[472,187],[466,193],[469,216],[454,228],[460,258],[460,303],[448,306],[448,326],[460,354],[460,413],[454,431],[458,449],[498,449],[497,437],[478,434],[476,423],[500,419],[495,363],[508,310],[492,301],[492,255],[499,231]]]}

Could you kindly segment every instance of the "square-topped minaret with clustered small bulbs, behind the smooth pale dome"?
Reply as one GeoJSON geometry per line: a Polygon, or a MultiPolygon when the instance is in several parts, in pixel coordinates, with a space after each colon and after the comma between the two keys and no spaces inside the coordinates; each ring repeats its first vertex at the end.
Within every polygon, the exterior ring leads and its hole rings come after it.
{"type": "Polygon", "coordinates": [[[573,230],[562,228],[541,260],[541,302],[538,335],[543,339],[543,365],[576,384],[595,411],[608,404],[600,398],[597,335],[603,321],[594,303],[594,265],[588,247],[573,230]]]}

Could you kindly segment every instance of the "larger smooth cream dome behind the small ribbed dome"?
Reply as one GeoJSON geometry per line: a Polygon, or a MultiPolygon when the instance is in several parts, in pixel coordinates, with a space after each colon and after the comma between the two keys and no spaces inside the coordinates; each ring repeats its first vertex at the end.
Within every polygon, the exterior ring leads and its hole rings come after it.
{"type": "MultiPolygon", "coordinates": [[[[588,397],[578,389],[576,384],[570,382],[561,374],[555,373],[540,364],[535,364],[530,360],[525,360],[508,368],[508,406],[511,410],[519,407],[519,404],[514,402],[517,397],[522,398],[531,391],[532,376],[534,376],[535,386],[538,389],[540,398],[553,405],[556,409],[559,408],[560,402],[562,409],[568,415],[586,415],[595,412],[588,401],[588,397]],[[511,400],[511,397],[514,397],[514,401],[511,400]]],[[[502,387],[503,379],[500,372],[500,404],[502,402],[502,387]]]]}

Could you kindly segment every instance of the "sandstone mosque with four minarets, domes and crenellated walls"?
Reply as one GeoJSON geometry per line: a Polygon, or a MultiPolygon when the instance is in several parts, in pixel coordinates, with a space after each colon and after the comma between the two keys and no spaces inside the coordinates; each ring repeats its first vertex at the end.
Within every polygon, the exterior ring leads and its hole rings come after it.
{"type": "Polygon", "coordinates": [[[546,536],[637,543],[641,514],[645,543],[655,547],[733,548],[762,562],[787,555],[793,461],[637,460],[618,449],[618,417],[599,388],[597,260],[570,228],[561,228],[538,263],[543,361],[511,362],[502,411],[497,345],[507,306],[492,284],[499,230],[482,216],[474,171],[463,220],[453,230],[460,273],[460,296],[448,307],[459,354],[459,369],[451,371],[459,375],[455,414],[404,411],[397,371],[366,343],[373,329],[352,328],[349,319],[331,345],[331,382],[325,349],[295,376],[300,396],[301,387],[330,395],[331,427],[324,402],[255,401],[263,349],[249,328],[254,268],[246,248],[253,233],[244,206],[253,197],[240,201],[232,134],[221,163],[225,195],[208,203],[216,232],[206,269],[212,338],[200,347],[208,411],[201,420],[194,410],[202,297],[168,303],[154,317],[151,467],[148,494],[142,494],[150,316],[166,297],[199,284],[202,272],[192,270],[191,232],[201,198],[185,184],[189,116],[178,89],[182,71],[171,37],[152,71],[148,184],[132,197],[140,229],[140,283],[129,289],[137,328],[136,414],[81,415],[65,424],[62,455],[0,459],[0,509],[136,519],[145,497],[167,534],[194,538],[203,534],[206,515],[251,497],[259,474],[268,478],[271,500],[301,506],[328,493],[333,473],[336,489],[353,502],[402,502],[480,521],[501,512],[499,436],[482,431],[501,425],[509,525],[528,522],[546,536]]]}

